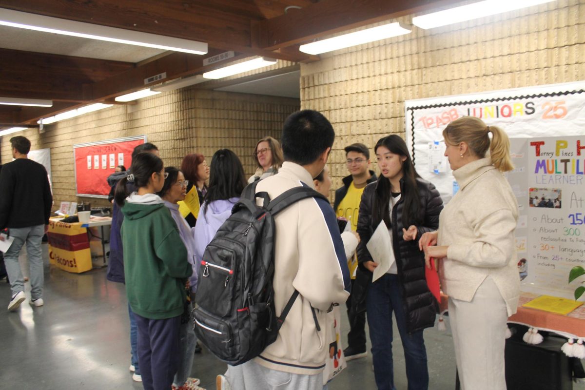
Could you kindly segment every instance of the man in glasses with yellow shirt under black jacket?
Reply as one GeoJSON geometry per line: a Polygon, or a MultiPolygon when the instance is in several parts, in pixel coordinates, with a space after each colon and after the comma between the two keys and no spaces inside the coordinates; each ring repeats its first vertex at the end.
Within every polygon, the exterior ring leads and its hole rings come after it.
{"type": "MultiPolygon", "coordinates": [[[[350,175],[343,178],[342,187],[335,191],[333,209],[338,217],[343,217],[352,224],[352,230],[357,228],[357,215],[360,208],[363,189],[367,184],[376,181],[376,174],[369,170],[370,151],[366,145],[355,143],[345,148],[347,170],[350,175]]],[[[348,264],[352,276],[352,294],[356,285],[355,268],[357,264],[348,264]]],[[[347,334],[347,348],[343,350],[346,360],[366,356],[366,311],[365,308],[352,308],[352,297],[346,301],[347,317],[349,318],[349,333],[347,334]]]]}

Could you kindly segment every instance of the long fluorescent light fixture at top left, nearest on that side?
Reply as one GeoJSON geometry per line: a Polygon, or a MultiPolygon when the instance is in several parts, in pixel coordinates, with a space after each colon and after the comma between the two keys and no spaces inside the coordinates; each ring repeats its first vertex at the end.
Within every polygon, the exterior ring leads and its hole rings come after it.
{"type": "Polygon", "coordinates": [[[108,42],[153,47],[154,49],[182,51],[183,53],[207,53],[207,43],[205,42],[94,25],[92,23],[75,22],[74,20],[52,18],[51,16],[12,11],[11,9],[5,8],[0,8],[0,25],[105,40],[108,42]]]}

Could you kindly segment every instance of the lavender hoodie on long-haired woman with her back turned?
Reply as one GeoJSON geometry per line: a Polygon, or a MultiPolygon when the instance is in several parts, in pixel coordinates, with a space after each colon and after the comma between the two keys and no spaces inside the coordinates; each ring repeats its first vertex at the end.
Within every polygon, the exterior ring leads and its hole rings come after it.
{"type": "Polygon", "coordinates": [[[199,209],[199,215],[197,216],[197,224],[193,228],[195,234],[195,259],[198,264],[201,264],[205,247],[214,238],[215,233],[222,226],[223,222],[230,215],[232,215],[232,208],[240,198],[230,198],[228,200],[213,201],[209,203],[207,212],[203,215],[205,210],[204,202],[199,209]]]}

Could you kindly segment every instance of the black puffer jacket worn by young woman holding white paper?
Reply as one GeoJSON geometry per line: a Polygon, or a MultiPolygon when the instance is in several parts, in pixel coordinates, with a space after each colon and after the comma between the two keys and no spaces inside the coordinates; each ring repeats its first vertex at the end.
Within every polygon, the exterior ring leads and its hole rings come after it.
{"type": "MultiPolygon", "coordinates": [[[[418,332],[433,326],[435,323],[436,299],[426,285],[425,256],[418,249],[418,239],[423,233],[438,229],[439,214],[443,209],[443,201],[433,184],[421,178],[417,179],[417,184],[421,198],[421,219],[424,221],[420,226],[417,226],[417,239],[412,241],[402,239],[402,228],[408,228],[408,226],[402,225],[404,199],[399,199],[394,205],[391,218],[394,256],[398,268],[398,280],[402,288],[408,333],[418,332]]],[[[372,206],[376,191],[378,191],[378,182],[364,188],[357,220],[357,233],[360,235],[360,243],[357,246],[359,271],[369,274],[370,281],[371,272],[363,266],[363,263],[372,260],[366,244],[377,227],[374,226],[372,218],[372,206]]]]}

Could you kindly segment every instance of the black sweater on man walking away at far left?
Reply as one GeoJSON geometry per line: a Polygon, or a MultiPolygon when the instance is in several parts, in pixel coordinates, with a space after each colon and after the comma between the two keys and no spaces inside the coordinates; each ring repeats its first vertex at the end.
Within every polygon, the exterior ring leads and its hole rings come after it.
{"type": "Polygon", "coordinates": [[[47,225],[53,205],[47,170],[28,158],[0,172],[0,229],[47,225]]]}

